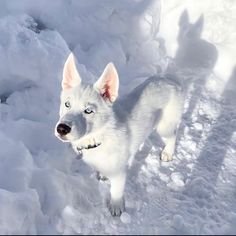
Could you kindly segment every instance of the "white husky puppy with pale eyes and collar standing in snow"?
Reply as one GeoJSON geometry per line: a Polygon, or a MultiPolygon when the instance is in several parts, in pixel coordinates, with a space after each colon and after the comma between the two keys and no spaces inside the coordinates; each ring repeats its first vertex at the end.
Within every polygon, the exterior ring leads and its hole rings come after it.
{"type": "Polygon", "coordinates": [[[153,130],[164,138],[161,160],[172,160],[183,103],[180,86],[170,78],[152,77],[120,99],[118,88],[112,63],[93,85],[82,83],[71,53],[64,65],[55,128],[60,140],[70,142],[89,166],[110,180],[113,216],[125,210],[127,167],[153,130]]]}

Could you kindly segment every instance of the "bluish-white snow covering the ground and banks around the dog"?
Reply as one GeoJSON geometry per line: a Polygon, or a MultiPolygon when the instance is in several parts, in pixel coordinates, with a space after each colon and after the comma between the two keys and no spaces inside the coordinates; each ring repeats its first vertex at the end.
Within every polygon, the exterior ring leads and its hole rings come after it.
{"type": "Polygon", "coordinates": [[[0,1],[0,234],[235,234],[236,2],[0,1]],[[107,183],[54,137],[69,51],[120,94],[177,74],[186,102],[173,162],[152,135],[110,216],[107,183]]]}

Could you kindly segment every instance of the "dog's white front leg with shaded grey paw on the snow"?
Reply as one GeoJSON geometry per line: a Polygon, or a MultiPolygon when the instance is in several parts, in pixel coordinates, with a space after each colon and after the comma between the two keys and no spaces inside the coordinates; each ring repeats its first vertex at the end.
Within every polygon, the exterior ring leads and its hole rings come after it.
{"type": "Polygon", "coordinates": [[[124,188],[126,181],[126,174],[120,173],[109,178],[111,183],[110,188],[110,201],[108,208],[112,216],[120,216],[125,210],[124,188]]]}

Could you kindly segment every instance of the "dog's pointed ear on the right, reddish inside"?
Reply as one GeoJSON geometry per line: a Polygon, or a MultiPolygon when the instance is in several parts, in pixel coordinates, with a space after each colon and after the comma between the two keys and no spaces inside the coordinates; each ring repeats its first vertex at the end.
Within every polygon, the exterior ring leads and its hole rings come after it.
{"type": "Polygon", "coordinates": [[[98,91],[101,96],[110,102],[114,102],[118,97],[119,77],[113,63],[107,64],[101,77],[93,85],[94,89],[98,91]]]}

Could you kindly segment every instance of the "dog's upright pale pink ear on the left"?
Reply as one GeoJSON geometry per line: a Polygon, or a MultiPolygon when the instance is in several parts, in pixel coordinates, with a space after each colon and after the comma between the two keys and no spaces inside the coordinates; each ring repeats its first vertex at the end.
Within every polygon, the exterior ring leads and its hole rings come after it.
{"type": "Polygon", "coordinates": [[[64,65],[61,86],[63,90],[67,90],[79,85],[80,83],[81,78],[76,69],[75,58],[73,53],[70,53],[64,65]]]}

